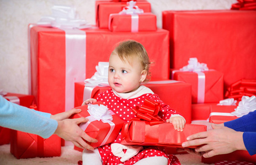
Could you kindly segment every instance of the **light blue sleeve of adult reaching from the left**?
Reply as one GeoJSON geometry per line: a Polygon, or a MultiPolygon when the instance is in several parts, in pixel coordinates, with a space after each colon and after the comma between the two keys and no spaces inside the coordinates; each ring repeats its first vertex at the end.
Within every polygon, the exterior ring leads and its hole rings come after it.
{"type": "Polygon", "coordinates": [[[57,129],[57,121],[51,114],[38,112],[7,101],[0,96],[0,125],[2,127],[49,138],[57,129]]]}

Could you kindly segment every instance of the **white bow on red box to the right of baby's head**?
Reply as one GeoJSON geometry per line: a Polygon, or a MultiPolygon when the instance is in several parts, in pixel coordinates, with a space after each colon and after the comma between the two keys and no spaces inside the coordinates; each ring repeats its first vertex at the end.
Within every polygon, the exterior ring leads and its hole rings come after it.
{"type": "Polygon", "coordinates": [[[207,64],[199,63],[198,58],[189,58],[188,65],[184,66],[180,70],[184,72],[204,72],[209,70],[207,64]]]}

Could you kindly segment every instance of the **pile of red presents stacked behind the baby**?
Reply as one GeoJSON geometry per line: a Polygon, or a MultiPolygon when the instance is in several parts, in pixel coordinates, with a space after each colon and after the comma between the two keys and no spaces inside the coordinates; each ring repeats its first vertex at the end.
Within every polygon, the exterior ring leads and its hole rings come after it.
{"type": "MultiPolygon", "coordinates": [[[[217,106],[224,98],[239,101],[244,95],[256,94],[255,11],[167,10],[162,12],[163,29],[159,29],[151,4],[141,0],[136,6],[129,8],[124,1],[96,1],[97,26],[86,29],[29,25],[30,87],[38,111],[67,111],[108,89],[97,84],[86,88],[84,80],[94,75],[99,62],[108,62],[116,43],[128,39],[142,43],[154,62],[151,82],[145,85],[181,113],[187,124],[207,120],[211,112],[234,111],[236,106],[217,106]],[[129,9],[137,13],[125,13],[129,9]],[[191,66],[196,69],[191,70],[191,66]]],[[[226,117],[222,122],[228,120],[226,117]]],[[[29,139],[28,147],[35,144],[34,150],[41,150],[32,155],[32,149],[25,149],[22,154],[14,147],[17,158],[61,154],[56,151],[61,147],[56,137],[45,140],[31,134],[15,136],[16,147],[23,138],[29,139]]],[[[178,141],[177,146],[185,138],[178,141]]],[[[202,158],[205,163],[223,160],[255,163],[256,156],[236,151],[228,156],[202,158]]]]}

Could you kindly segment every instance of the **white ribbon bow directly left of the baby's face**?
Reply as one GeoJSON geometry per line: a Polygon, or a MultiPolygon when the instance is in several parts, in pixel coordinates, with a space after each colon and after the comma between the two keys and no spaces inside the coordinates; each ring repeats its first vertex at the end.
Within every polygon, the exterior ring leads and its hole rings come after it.
{"type": "Polygon", "coordinates": [[[84,80],[85,86],[109,86],[108,83],[108,62],[99,62],[95,67],[97,72],[94,73],[92,78],[84,80]]]}

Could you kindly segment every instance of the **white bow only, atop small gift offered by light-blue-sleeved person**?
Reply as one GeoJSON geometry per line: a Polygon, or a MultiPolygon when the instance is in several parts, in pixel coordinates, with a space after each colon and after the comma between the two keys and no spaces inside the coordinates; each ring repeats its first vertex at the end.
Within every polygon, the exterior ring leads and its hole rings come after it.
{"type": "Polygon", "coordinates": [[[103,123],[108,123],[113,120],[111,112],[108,111],[109,108],[103,105],[88,105],[88,112],[90,116],[94,117],[96,120],[102,120],[103,123]]]}

